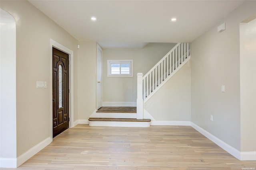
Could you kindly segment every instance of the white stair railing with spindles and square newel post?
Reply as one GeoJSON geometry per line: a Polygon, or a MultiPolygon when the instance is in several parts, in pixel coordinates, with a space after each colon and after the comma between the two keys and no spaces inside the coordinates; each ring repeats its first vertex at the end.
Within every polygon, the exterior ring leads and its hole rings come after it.
{"type": "Polygon", "coordinates": [[[144,117],[144,104],[190,59],[190,44],[176,44],[144,76],[137,74],[137,119],[144,117]]]}

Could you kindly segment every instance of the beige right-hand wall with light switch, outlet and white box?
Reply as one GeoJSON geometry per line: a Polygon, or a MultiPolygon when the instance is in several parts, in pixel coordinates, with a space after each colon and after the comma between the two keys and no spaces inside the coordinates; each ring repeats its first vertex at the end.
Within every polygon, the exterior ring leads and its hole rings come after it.
{"type": "Polygon", "coordinates": [[[191,120],[237,150],[241,137],[239,23],[255,14],[255,9],[256,1],[244,2],[191,45],[191,120]],[[226,30],[218,33],[217,27],[224,22],[226,30]]]}

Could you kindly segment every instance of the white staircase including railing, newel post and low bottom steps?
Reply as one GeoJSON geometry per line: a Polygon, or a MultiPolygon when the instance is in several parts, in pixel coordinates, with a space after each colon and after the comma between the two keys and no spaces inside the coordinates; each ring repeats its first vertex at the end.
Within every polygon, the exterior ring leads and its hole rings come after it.
{"type": "Polygon", "coordinates": [[[149,127],[144,119],[144,104],[190,59],[190,44],[175,45],[148,73],[137,74],[136,113],[96,112],[90,116],[90,126],[149,127]]]}

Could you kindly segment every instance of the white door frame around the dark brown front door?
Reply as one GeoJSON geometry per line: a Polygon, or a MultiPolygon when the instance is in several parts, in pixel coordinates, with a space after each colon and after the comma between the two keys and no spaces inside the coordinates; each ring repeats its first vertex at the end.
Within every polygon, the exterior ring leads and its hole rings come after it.
{"type": "Polygon", "coordinates": [[[74,57],[73,57],[73,51],[68,49],[67,47],[64,47],[60,43],[57,43],[53,39],[50,39],[50,137],[52,141],[52,47],[63,51],[64,53],[67,53],[69,55],[69,127],[74,127],[74,57]]]}

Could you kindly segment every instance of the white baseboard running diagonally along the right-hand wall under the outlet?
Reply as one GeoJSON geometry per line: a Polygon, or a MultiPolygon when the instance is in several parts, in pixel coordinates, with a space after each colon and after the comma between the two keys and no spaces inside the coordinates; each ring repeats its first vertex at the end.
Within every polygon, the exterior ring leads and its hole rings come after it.
{"type": "Polygon", "coordinates": [[[237,159],[241,160],[240,151],[235,149],[234,147],[228,145],[227,143],[223,142],[222,140],[218,139],[208,131],[204,130],[202,127],[199,127],[195,123],[191,122],[191,126],[196,129],[198,132],[200,132],[202,135],[210,139],[212,142],[216,143],[219,147],[226,150],[228,153],[232,154],[237,159]]]}

